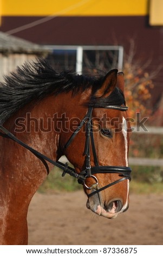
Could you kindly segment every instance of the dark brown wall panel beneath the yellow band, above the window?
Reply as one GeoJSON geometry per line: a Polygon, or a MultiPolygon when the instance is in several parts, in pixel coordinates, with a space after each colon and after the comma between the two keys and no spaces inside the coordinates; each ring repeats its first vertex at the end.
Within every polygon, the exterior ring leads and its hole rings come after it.
{"type": "MultiPolygon", "coordinates": [[[[2,17],[0,30],[8,32],[42,18],[2,17]]],[[[12,35],[46,45],[122,45],[125,52],[134,39],[135,58],[142,62],[152,59],[148,72],[163,64],[163,28],[149,26],[148,16],[55,17],[12,35]]],[[[162,92],[162,72],[155,81],[156,100],[162,92]]]]}

